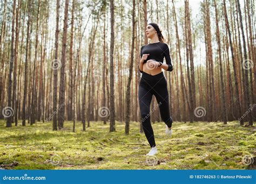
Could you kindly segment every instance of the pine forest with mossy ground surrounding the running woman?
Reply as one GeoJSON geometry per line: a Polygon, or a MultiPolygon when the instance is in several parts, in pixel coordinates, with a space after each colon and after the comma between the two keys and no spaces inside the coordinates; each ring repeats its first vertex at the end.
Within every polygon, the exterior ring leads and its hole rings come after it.
{"type": "Polygon", "coordinates": [[[256,168],[254,1],[0,6],[3,168],[256,168]],[[145,162],[138,66],[151,22],[170,48],[173,72],[165,76],[174,122],[167,139],[153,97],[151,122],[163,150],[145,162]]]}

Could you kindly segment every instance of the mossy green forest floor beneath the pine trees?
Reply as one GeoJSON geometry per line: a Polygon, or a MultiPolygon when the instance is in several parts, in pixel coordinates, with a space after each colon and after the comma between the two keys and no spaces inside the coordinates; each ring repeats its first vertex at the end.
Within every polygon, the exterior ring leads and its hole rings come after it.
{"type": "Polygon", "coordinates": [[[158,154],[146,156],[150,146],[139,123],[64,123],[52,131],[52,122],[5,128],[0,120],[0,169],[256,169],[256,128],[238,122],[173,123],[172,137],[164,122],[152,124],[158,154]],[[253,158],[254,157],[254,158],[253,158]],[[254,162],[253,162],[254,161],[254,162]]]}

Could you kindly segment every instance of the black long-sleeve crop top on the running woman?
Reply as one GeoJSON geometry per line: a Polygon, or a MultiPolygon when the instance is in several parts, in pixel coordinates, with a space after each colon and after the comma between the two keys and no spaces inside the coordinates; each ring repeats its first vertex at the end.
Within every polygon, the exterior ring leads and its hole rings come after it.
{"type": "MultiPolygon", "coordinates": [[[[143,54],[150,54],[147,56],[147,59],[143,62],[147,62],[147,60],[154,59],[158,62],[163,62],[165,58],[166,65],[168,65],[167,71],[172,72],[173,66],[172,66],[172,60],[170,57],[170,50],[169,46],[166,43],[152,43],[143,45],[142,48],[140,48],[140,59],[142,58],[143,54]]],[[[142,70],[140,70],[140,73],[143,73],[142,70]]]]}

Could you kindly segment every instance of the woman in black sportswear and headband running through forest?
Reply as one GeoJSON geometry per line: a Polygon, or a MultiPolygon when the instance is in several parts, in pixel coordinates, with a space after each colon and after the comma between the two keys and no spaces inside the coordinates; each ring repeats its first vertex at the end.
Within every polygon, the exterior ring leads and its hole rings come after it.
{"type": "Polygon", "coordinates": [[[145,136],[149,141],[151,150],[146,155],[157,153],[154,132],[150,123],[150,103],[152,95],[157,99],[161,119],[166,124],[166,134],[172,135],[173,119],[169,112],[169,94],[167,81],[163,70],[172,72],[173,66],[170,58],[169,46],[164,43],[164,37],[156,23],[150,23],[146,27],[147,38],[151,43],[140,49],[139,71],[142,77],[139,83],[139,108],[142,115],[142,126],[145,136]],[[165,57],[166,64],[163,63],[165,57]]]}

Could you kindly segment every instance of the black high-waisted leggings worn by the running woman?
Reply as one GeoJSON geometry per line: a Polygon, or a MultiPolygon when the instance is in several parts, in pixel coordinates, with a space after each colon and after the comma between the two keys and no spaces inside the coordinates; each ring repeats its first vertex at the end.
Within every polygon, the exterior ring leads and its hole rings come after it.
{"type": "MultiPolygon", "coordinates": [[[[157,99],[157,106],[160,110],[161,119],[171,128],[173,119],[169,112],[169,94],[167,90],[167,81],[163,72],[157,75],[150,75],[145,72],[139,83],[139,108],[142,116],[142,126],[150,147],[156,146],[154,141],[154,132],[150,123],[150,103],[152,95],[157,99]]],[[[152,111],[156,110],[154,107],[152,111]]]]}

